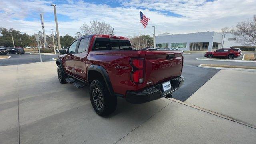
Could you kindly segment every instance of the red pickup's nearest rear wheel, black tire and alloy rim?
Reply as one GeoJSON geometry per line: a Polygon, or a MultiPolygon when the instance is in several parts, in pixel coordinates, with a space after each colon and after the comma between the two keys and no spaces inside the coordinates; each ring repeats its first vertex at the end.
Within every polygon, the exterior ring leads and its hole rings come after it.
{"type": "Polygon", "coordinates": [[[90,100],[95,112],[107,116],[116,110],[116,96],[111,96],[104,82],[93,80],[90,84],[90,100]]]}

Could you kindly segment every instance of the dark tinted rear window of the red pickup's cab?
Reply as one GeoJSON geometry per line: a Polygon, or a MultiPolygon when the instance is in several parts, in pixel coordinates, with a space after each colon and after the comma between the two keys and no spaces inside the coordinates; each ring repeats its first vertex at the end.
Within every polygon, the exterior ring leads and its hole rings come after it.
{"type": "Polygon", "coordinates": [[[132,50],[132,46],[128,40],[96,38],[92,50],[132,50]]]}

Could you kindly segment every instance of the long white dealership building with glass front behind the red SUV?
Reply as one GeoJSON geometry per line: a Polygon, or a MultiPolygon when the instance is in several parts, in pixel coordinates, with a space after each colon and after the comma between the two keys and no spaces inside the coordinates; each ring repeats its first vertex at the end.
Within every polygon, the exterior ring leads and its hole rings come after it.
{"type": "MultiPolygon", "coordinates": [[[[179,48],[181,50],[217,50],[232,46],[244,46],[231,32],[196,32],[189,34],[163,33],[155,36],[155,48],[179,48]]],[[[249,45],[250,46],[250,45],[249,45]]]]}

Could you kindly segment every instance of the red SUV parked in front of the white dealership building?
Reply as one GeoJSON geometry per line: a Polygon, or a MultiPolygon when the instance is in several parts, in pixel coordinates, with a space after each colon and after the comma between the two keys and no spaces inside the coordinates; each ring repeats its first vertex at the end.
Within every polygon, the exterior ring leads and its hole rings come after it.
{"type": "Polygon", "coordinates": [[[219,50],[215,50],[213,52],[206,52],[204,54],[204,57],[207,58],[228,58],[228,59],[234,59],[235,57],[239,57],[241,55],[240,48],[222,48],[219,50]]]}

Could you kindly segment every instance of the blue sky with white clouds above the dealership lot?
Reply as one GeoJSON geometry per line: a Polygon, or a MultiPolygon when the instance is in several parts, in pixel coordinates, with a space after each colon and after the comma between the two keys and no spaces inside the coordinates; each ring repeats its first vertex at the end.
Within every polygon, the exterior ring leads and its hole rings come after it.
{"type": "Polygon", "coordinates": [[[116,35],[138,35],[140,10],[150,18],[145,29],[141,26],[141,33],[151,36],[152,26],[156,26],[156,35],[219,32],[256,14],[256,0],[0,0],[0,27],[34,34],[42,31],[42,12],[49,35],[56,28],[53,3],[60,35],[71,36],[92,20],[109,23],[116,35]]]}

